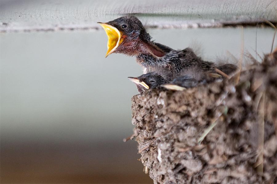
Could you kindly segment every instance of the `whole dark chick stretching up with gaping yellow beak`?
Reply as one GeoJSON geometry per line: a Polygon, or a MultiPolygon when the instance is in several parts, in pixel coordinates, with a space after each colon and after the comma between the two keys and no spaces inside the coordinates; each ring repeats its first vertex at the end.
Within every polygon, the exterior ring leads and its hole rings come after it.
{"type": "Polygon", "coordinates": [[[111,53],[135,56],[136,61],[144,68],[144,73],[155,72],[162,68],[175,77],[191,66],[196,66],[203,71],[214,68],[212,62],[203,61],[190,48],[175,50],[151,41],[151,36],[134,16],[98,23],[108,36],[106,57],[111,53]]]}

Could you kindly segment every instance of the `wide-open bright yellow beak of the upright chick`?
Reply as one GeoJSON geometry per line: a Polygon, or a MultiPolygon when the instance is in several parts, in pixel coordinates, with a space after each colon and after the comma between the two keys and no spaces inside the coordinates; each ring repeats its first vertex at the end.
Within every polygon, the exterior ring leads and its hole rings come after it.
{"type": "Polygon", "coordinates": [[[114,52],[114,50],[118,47],[118,45],[121,44],[123,40],[120,32],[114,26],[111,26],[109,24],[105,24],[102,22],[97,22],[97,23],[102,26],[102,28],[106,31],[106,34],[108,36],[108,43],[107,43],[108,51],[106,53],[106,57],[107,57],[108,55],[114,52]]]}

